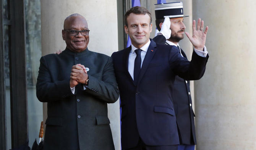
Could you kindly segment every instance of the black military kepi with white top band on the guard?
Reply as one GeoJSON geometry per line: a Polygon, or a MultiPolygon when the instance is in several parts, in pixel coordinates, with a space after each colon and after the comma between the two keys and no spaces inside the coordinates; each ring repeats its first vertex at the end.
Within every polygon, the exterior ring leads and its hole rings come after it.
{"type": "Polygon", "coordinates": [[[164,17],[188,17],[183,15],[183,3],[161,3],[155,4],[156,19],[162,19],[164,17]]]}

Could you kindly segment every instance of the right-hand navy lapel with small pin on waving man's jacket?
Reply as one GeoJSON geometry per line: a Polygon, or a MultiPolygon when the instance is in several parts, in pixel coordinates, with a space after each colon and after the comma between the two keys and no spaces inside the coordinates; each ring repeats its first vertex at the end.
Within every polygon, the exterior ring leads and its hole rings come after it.
{"type": "Polygon", "coordinates": [[[139,79],[138,79],[138,84],[139,85],[139,82],[141,81],[141,79],[143,78],[146,70],[147,70],[147,67],[150,63],[150,61],[152,60],[154,54],[156,53],[157,49],[156,49],[156,43],[150,39],[150,44],[149,44],[149,48],[147,49],[147,53],[146,53],[146,56],[143,60],[143,63],[142,63],[142,66],[141,66],[141,71],[139,72],[139,79]]]}

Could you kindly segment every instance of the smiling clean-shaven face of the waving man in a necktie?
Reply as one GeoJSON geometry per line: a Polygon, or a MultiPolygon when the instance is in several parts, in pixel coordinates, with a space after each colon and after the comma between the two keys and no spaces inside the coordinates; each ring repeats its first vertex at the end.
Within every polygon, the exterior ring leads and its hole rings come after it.
{"type": "Polygon", "coordinates": [[[129,34],[131,44],[140,49],[149,41],[152,32],[152,24],[150,17],[146,14],[131,13],[127,17],[127,26],[125,25],[125,33],[129,34]]]}

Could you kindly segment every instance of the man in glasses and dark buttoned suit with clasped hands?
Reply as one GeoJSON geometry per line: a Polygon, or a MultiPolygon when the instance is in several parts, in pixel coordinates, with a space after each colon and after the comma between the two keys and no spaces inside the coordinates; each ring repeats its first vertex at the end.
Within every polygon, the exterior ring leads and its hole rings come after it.
{"type": "Polygon", "coordinates": [[[45,150],[114,150],[107,103],[118,99],[112,58],[89,51],[86,19],[72,14],[62,30],[66,49],[41,57],[37,98],[47,102],[45,150]]]}

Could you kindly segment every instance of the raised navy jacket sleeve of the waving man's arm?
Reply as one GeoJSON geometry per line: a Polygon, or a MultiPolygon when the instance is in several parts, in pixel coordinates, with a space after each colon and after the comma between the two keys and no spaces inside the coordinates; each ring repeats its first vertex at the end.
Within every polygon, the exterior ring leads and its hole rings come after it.
{"type": "Polygon", "coordinates": [[[172,46],[169,63],[175,75],[185,80],[199,80],[204,75],[208,58],[208,54],[207,57],[201,57],[193,50],[191,61],[188,61],[181,57],[177,47],[172,46]]]}

